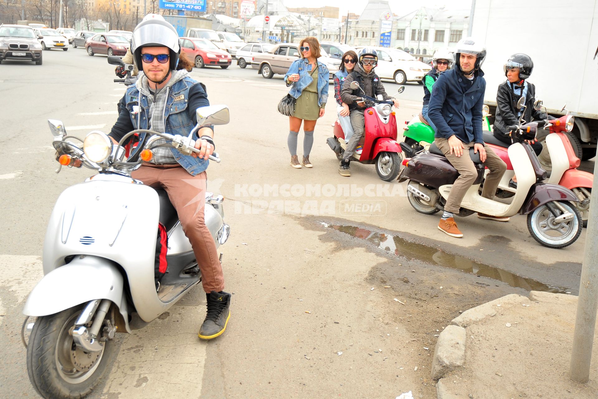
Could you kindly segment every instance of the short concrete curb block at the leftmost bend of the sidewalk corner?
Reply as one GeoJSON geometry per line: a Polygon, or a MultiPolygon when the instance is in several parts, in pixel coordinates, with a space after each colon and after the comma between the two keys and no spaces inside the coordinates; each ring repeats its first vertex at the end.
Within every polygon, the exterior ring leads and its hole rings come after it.
{"type": "Polygon", "coordinates": [[[432,379],[440,379],[463,366],[465,339],[465,328],[457,325],[449,325],[440,333],[432,360],[432,379]]]}

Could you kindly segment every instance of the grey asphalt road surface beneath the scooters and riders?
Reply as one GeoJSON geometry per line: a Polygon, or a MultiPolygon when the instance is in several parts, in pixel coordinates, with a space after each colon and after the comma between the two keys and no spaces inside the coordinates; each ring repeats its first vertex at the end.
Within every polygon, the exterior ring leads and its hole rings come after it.
{"type": "MultiPolygon", "coordinates": [[[[47,120],[62,120],[80,138],[108,132],[124,87],[112,82],[105,56],[81,49],[45,51],[42,66],[3,62],[0,71],[0,397],[36,397],[20,343],[23,303],[42,276],[54,202],[93,173],[54,173],[47,120]]],[[[386,184],[371,165],[338,175],[325,144],[331,107],[316,126],[315,167],[296,170],[288,165],[288,121],[276,112],[282,77],[266,80],[236,65],[191,75],[213,104],[231,111],[231,123],[216,127],[222,163],[208,170],[208,190],[227,198],[233,232],[221,247],[234,293],[231,322],[218,340],[199,342],[205,299],[194,291],[147,328],[117,334],[117,360],[90,397],[394,398],[411,390],[428,398],[435,389],[422,347],[433,348],[434,331],[458,310],[535,287],[577,292],[585,230],[568,248],[547,249],[530,237],[524,217],[468,217],[459,224],[465,237],[450,239],[438,232],[437,216],[413,211],[405,184],[386,184]],[[283,194],[285,184],[292,190],[283,194]],[[346,211],[346,200],[360,206],[346,211]],[[375,212],[367,208],[376,204],[375,212]],[[415,299],[397,308],[393,296],[415,299]],[[425,321],[417,324],[417,315],[425,321]]],[[[421,106],[421,87],[406,86],[399,126],[421,106]]],[[[300,149],[302,141],[301,133],[300,149]]]]}

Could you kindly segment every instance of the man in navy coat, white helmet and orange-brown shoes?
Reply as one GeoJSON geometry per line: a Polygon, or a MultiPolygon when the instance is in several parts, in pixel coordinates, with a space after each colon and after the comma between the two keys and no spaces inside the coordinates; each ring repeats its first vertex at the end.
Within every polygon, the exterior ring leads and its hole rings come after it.
{"type": "MultiPolygon", "coordinates": [[[[472,38],[465,38],[457,43],[456,48],[455,68],[441,74],[434,84],[428,117],[437,127],[434,143],[459,171],[459,178],[454,182],[444,205],[438,229],[451,237],[460,238],[463,233],[457,229],[454,214],[459,214],[461,201],[478,175],[469,156],[469,148],[480,153],[481,162],[490,170],[484,180],[482,196],[485,198],[492,199],[495,196],[507,164],[483,140],[482,106],[486,80],[480,67],[486,57],[486,47],[472,38]]],[[[501,222],[509,220],[508,217],[479,212],[478,218],[501,222]]]]}

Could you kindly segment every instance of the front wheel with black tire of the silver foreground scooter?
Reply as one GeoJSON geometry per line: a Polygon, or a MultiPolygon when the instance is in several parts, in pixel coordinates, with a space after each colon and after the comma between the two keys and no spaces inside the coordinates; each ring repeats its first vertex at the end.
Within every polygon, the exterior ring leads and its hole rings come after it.
{"type": "MultiPolygon", "coordinates": [[[[54,315],[38,317],[27,347],[27,370],[33,388],[46,399],[80,398],[89,394],[100,382],[114,354],[114,343],[104,343],[102,352],[89,354],[75,349],[69,330],[79,316],[82,305],[71,307],[54,315]],[[73,354],[73,355],[71,355],[73,354]],[[76,361],[89,367],[87,371],[77,371],[76,361]],[[65,371],[69,370],[69,371],[65,371]]],[[[75,347],[76,348],[76,347],[75,347]]]]}

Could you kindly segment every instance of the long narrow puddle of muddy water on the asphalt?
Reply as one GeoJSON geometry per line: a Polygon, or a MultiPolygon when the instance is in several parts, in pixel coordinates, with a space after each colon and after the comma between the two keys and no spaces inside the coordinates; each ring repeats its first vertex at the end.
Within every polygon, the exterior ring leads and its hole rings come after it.
{"type": "Polygon", "coordinates": [[[395,254],[396,256],[437,264],[438,266],[449,267],[450,269],[460,270],[477,276],[488,277],[505,282],[511,287],[523,288],[527,291],[546,291],[548,293],[566,293],[571,291],[565,287],[553,287],[542,284],[534,279],[524,278],[507,272],[506,270],[499,269],[498,267],[479,263],[459,255],[447,254],[440,249],[432,248],[420,243],[409,242],[398,236],[372,232],[371,230],[355,226],[337,226],[325,223],[322,223],[322,225],[349,234],[352,237],[366,240],[377,248],[395,254]]]}

